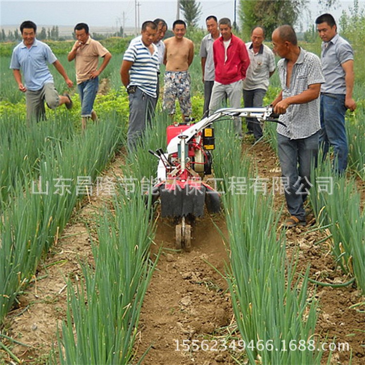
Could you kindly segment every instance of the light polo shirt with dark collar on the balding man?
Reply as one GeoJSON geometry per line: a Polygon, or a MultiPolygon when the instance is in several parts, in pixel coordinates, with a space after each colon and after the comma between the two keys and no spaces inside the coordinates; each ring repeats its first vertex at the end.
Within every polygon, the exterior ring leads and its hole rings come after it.
{"type": "Polygon", "coordinates": [[[250,66],[246,71],[246,78],[243,80],[243,90],[269,88],[270,73],[275,70],[275,57],[273,51],[266,45],[261,44],[258,53],[254,53],[252,42],[246,43],[250,66]]]}

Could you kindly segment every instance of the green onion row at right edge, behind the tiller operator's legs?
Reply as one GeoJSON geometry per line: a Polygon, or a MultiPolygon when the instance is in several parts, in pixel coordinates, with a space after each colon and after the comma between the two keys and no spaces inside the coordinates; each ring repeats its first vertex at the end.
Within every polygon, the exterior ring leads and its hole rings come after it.
{"type": "Polygon", "coordinates": [[[326,227],[330,232],[336,266],[354,276],[358,288],[365,294],[365,212],[361,209],[361,195],[355,180],[333,174],[329,161],[313,171],[311,180],[314,186],[310,203],[319,227],[326,227]],[[329,191],[318,188],[321,179],[331,179],[329,191]]]}

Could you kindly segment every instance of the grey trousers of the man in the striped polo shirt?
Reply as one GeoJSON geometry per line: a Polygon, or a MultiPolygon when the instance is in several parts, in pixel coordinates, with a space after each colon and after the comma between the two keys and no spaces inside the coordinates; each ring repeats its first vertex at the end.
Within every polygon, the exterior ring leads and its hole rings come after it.
{"type": "Polygon", "coordinates": [[[146,123],[151,123],[157,98],[147,95],[138,87],[129,96],[129,123],[127,145],[129,151],[134,151],[138,141],[146,129],[146,123]]]}

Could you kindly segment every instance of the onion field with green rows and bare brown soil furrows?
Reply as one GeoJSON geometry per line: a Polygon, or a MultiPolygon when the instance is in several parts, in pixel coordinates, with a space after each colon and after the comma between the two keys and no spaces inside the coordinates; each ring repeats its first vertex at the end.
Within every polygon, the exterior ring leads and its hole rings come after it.
{"type": "MultiPolygon", "coordinates": [[[[319,52],[318,42],[302,46],[319,52]]],[[[285,199],[270,183],[281,174],[276,125],[267,123],[264,141],[253,145],[249,136],[237,141],[221,121],[213,169],[224,191],[222,211],[196,219],[190,253],[175,249],[175,222],[141,193],[156,174],[148,149],[166,147],[170,119],[161,99],[143,141],[127,153],[122,51],[103,73],[98,122],[81,132],[76,88],[72,110],[48,110],[46,121],[26,123],[6,47],[0,56],[0,364],[365,362],[364,45],[355,60],[358,107],[346,119],[348,171],[338,177],[329,160],[319,162],[306,205],[309,224],[282,229],[285,199]],[[233,193],[232,182],[243,178],[259,180],[260,189],[233,193]]],[[[57,47],[74,81],[64,52],[69,44],[57,47]]],[[[190,71],[199,121],[198,55],[190,71]]],[[[66,91],[52,66],[51,72],[57,90],[66,91]]],[[[274,74],[266,105],[277,92],[274,74]]]]}

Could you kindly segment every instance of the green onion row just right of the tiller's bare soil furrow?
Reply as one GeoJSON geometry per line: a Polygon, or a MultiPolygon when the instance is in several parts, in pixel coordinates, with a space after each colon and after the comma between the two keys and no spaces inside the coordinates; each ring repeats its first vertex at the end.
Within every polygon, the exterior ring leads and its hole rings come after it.
{"type": "MultiPolygon", "coordinates": [[[[232,176],[256,177],[250,158],[237,158],[241,146],[233,133],[223,128],[216,135],[215,176],[225,182],[232,176]]],[[[303,279],[297,278],[295,259],[288,262],[286,257],[285,236],[277,237],[281,212],[275,212],[270,197],[255,194],[254,189],[235,195],[227,184],[222,190],[229,232],[227,281],[245,356],[250,364],[320,364],[321,351],[283,350],[291,341],[312,339],[317,303],[308,297],[309,270],[303,279]],[[263,350],[248,348],[251,340],[254,347],[261,341],[274,350],[266,345],[263,350]]]]}

